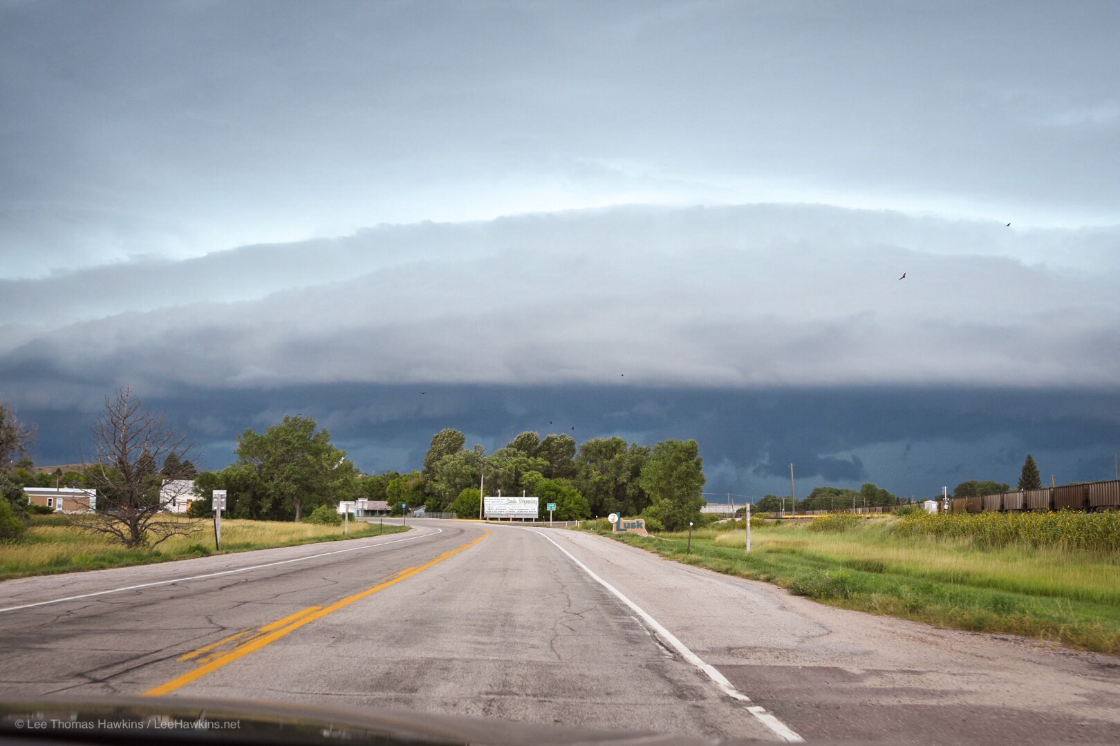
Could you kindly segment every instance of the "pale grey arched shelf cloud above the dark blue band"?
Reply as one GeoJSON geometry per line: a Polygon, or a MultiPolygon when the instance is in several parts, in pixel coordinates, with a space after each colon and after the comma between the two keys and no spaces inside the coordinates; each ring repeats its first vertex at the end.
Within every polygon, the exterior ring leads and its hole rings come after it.
{"type": "Polygon", "coordinates": [[[0,368],[151,390],[1113,386],[1114,262],[1028,264],[998,255],[1009,242],[986,225],[765,206],[384,228],[9,282],[6,313],[29,315],[0,330],[0,368]],[[962,253],[986,240],[987,255],[962,253]]]}

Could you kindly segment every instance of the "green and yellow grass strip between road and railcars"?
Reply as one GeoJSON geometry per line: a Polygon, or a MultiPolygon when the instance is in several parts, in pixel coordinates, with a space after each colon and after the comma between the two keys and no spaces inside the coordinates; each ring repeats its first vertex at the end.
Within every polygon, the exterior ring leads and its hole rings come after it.
{"type": "MultiPolygon", "coordinates": [[[[741,521],[739,523],[741,526],[741,521]]],[[[980,549],[967,538],[894,532],[896,519],[830,533],[806,526],[616,537],[666,558],[775,583],[843,608],[1120,653],[1120,554],[980,549]]]]}

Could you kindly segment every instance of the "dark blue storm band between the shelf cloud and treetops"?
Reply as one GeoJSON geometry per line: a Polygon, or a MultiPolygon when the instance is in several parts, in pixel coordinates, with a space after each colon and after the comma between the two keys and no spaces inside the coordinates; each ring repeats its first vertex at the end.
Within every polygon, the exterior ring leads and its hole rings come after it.
{"type": "MultiPolygon", "coordinates": [[[[654,443],[696,438],[706,491],[759,497],[864,481],[909,497],[967,479],[1015,483],[1028,452],[1062,482],[1109,479],[1120,436],[1120,395],[952,388],[680,389],[492,386],[302,386],[214,391],[179,388],[146,404],[190,431],[203,462],[233,459],[246,427],[286,414],[316,417],[368,471],[418,469],[431,435],[458,427],[468,445],[502,447],[517,433],[568,433],[584,442],[619,435],[654,443]],[[420,391],[427,391],[420,395],[420,391]],[[554,425],[549,426],[552,421],[554,425]],[[571,431],[571,426],[576,431],[571,431]],[[906,443],[913,443],[905,460],[906,443]],[[861,451],[864,456],[841,455],[861,451]]],[[[38,463],[71,463],[95,412],[24,407],[38,425],[38,463]]]]}

